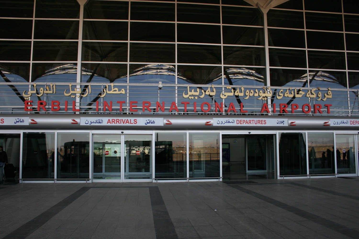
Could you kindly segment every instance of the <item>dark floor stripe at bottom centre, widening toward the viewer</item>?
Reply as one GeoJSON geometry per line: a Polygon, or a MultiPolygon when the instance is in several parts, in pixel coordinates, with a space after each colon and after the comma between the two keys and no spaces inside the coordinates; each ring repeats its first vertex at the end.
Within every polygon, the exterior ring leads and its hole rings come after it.
{"type": "Polygon", "coordinates": [[[148,187],[157,239],[178,239],[176,230],[169,217],[166,205],[164,204],[161,192],[158,187],[148,187]]]}

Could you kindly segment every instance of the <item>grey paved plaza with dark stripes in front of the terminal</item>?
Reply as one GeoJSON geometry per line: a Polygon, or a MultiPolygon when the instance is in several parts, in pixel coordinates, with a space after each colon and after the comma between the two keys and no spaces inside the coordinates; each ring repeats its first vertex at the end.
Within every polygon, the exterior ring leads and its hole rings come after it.
{"type": "Polygon", "coordinates": [[[0,185],[0,238],[359,238],[359,177],[0,185]]]}

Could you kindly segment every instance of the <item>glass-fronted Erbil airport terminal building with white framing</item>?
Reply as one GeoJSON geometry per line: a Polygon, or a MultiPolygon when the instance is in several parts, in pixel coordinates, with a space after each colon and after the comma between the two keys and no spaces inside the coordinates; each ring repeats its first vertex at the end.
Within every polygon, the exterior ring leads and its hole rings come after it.
{"type": "Polygon", "coordinates": [[[355,0],[0,0],[20,182],[358,176],[355,0]]]}

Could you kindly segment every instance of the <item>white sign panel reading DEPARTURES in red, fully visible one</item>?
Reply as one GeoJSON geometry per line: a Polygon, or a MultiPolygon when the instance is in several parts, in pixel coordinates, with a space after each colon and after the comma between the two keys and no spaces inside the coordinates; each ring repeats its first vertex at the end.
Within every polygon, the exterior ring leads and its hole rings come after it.
{"type": "Polygon", "coordinates": [[[288,119],[213,118],[213,125],[219,125],[219,126],[229,126],[229,125],[230,126],[288,126],[288,119]]]}

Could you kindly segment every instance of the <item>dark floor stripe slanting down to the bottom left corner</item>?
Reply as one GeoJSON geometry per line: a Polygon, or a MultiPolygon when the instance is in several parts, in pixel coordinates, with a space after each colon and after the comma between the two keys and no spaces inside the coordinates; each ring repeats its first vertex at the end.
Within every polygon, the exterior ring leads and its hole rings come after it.
{"type": "Polygon", "coordinates": [[[61,200],[54,206],[50,207],[42,214],[38,215],[36,218],[28,221],[24,225],[20,226],[18,229],[14,230],[12,233],[3,237],[3,239],[24,239],[33,233],[36,229],[40,226],[45,224],[48,220],[50,220],[53,216],[58,214],[61,210],[65,207],[70,205],[73,201],[78,199],[81,195],[87,192],[90,187],[82,187],[70,196],[66,197],[65,199],[61,200]]]}

